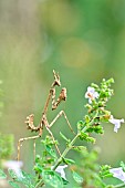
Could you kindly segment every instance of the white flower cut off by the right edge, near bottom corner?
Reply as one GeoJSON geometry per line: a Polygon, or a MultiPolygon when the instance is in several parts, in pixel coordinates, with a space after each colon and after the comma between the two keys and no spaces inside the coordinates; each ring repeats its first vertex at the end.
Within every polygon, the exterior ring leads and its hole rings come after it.
{"type": "Polygon", "coordinates": [[[112,168],[110,169],[110,173],[113,174],[113,177],[121,179],[123,182],[125,182],[125,173],[123,171],[122,167],[112,168]]]}

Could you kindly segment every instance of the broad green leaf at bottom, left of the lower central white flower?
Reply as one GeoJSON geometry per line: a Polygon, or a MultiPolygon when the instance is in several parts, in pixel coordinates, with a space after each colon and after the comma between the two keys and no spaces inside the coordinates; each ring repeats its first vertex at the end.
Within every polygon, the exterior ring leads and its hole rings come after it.
{"type": "Polygon", "coordinates": [[[54,188],[63,188],[63,180],[61,176],[59,176],[58,173],[53,170],[44,170],[42,171],[42,178],[45,182],[45,185],[50,185],[54,188]]]}

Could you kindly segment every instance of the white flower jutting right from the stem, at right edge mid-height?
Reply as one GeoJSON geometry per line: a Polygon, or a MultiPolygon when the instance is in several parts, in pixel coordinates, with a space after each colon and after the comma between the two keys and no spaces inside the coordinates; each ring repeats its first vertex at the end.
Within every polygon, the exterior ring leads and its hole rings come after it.
{"type": "Polygon", "coordinates": [[[124,118],[122,119],[116,119],[113,117],[113,115],[111,115],[111,118],[108,119],[108,122],[111,122],[112,124],[114,124],[114,132],[117,133],[118,128],[121,128],[121,123],[124,123],[124,118]]]}

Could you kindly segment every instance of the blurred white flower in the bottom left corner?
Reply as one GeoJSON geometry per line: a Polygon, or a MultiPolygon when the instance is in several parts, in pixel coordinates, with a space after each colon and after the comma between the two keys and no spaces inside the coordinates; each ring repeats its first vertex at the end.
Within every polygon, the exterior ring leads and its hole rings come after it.
{"type": "Polygon", "coordinates": [[[23,166],[22,161],[7,160],[7,161],[3,161],[2,165],[4,168],[12,169],[18,177],[23,178],[23,175],[21,173],[21,167],[23,166]]]}

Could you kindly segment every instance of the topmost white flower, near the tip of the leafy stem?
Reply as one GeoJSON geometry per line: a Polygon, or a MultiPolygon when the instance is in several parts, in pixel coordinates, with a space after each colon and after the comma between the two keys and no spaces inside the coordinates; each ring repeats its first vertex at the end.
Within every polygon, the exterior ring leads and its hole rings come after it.
{"type": "Polygon", "coordinates": [[[88,103],[91,104],[93,100],[98,98],[100,94],[95,92],[94,87],[88,86],[87,92],[85,93],[85,98],[88,98],[88,103]]]}

